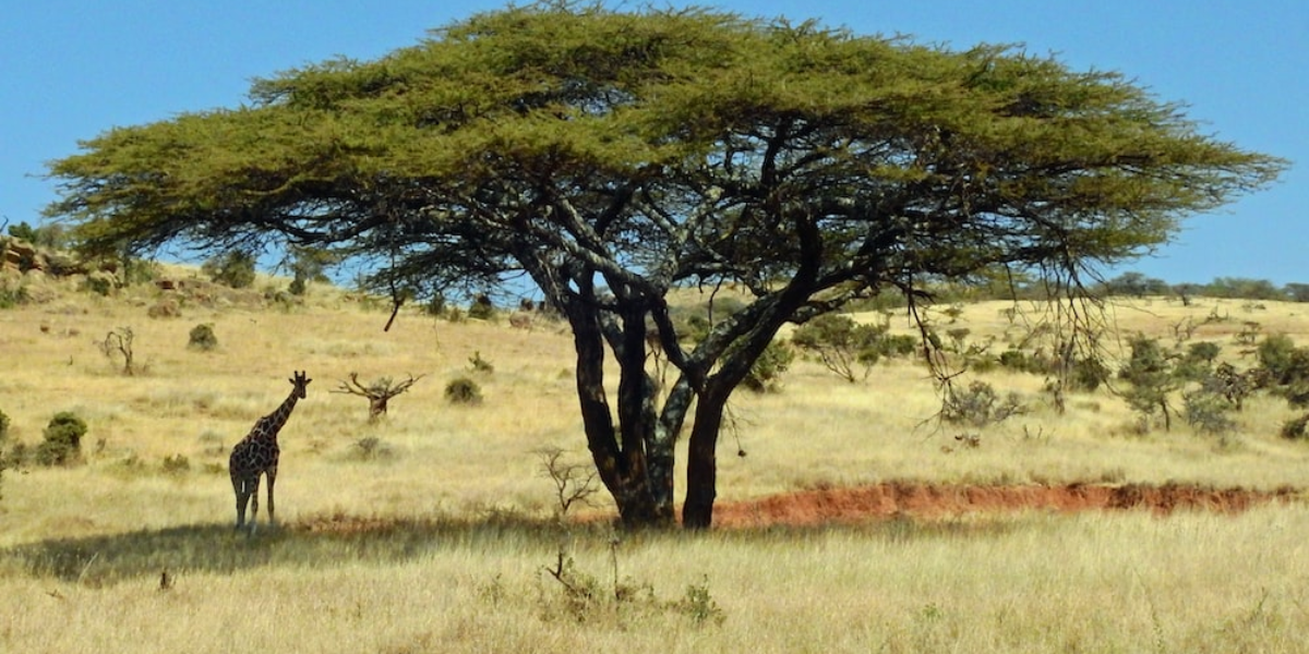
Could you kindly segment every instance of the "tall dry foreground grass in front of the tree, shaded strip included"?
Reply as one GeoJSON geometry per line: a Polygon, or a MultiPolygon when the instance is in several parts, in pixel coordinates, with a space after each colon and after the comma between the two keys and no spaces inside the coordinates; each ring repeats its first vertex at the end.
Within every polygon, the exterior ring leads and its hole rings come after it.
{"type": "Polygon", "coordinates": [[[528,519],[174,528],[10,551],[7,651],[1297,651],[1309,514],[1145,513],[564,539],[528,519]],[[602,591],[545,572],[560,548],[602,591]],[[27,568],[24,568],[26,565],[27,568]],[[35,568],[33,568],[35,566],[35,568]],[[45,566],[45,568],[42,568],[45,566]],[[17,568],[17,569],[14,569],[17,568]],[[170,589],[160,590],[164,569],[170,589]],[[702,589],[724,620],[675,610],[702,589]]]}

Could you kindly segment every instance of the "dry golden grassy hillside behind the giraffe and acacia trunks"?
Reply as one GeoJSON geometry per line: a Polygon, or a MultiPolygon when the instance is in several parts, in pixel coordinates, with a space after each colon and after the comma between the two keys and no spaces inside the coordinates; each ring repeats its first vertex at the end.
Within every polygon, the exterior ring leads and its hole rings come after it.
{"type": "MultiPolygon", "coordinates": [[[[449,322],[406,310],[384,332],[385,302],[330,286],[287,302],[276,293],[266,300],[262,290],[242,294],[195,279],[181,285],[187,284],[190,290],[140,285],[101,297],[76,281],[46,280],[33,284],[39,302],[0,311],[8,362],[0,411],[12,420],[10,441],[35,445],[60,411],[81,416],[90,429],[84,466],[25,466],[5,475],[5,543],[230,519],[226,454],[285,396],[293,370],[308,370],[315,383],[281,437],[284,518],[546,514],[552,488],[539,450],[562,447],[569,460],[586,462],[562,324],[538,317],[522,330],[508,319],[449,322]],[[161,305],[173,309],[161,314],[161,305]],[[198,324],[212,326],[216,351],[187,347],[198,324]],[[106,335],[124,328],[134,335],[134,375],[122,373],[120,356],[101,348],[106,335]],[[493,371],[473,371],[474,357],[493,371]],[[393,400],[387,419],[369,424],[365,400],[330,392],[351,373],[364,381],[424,377],[393,400]],[[445,385],[463,375],[482,386],[480,405],[445,400],[445,385]]],[[[272,284],[255,288],[263,286],[272,284]]],[[[954,309],[953,320],[967,327],[969,340],[995,339],[999,351],[1022,328],[1007,309],[1012,305],[967,305],[954,309]]],[[[1115,303],[1110,315],[1123,334],[1162,337],[1186,319],[1204,323],[1192,337],[1223,344],[1224,357],[1240,364],[1232,341],[1246,322],[1261,323],[1264,334],[1301,336],[1309,331],[1301,309],[1145,300],[1115,303]],[[1217,318],[1206,323],[1207,317],[1217,318]]],[[[907,327],[903,317],[893,323],[907,327]]],[[[1185,424],[1139,434],[1124,403],[1103,390],[1071,396],[1060,416],[1043,399],[1038,375],[997,369],[974,378],[1017,392],[1026,413],[986,429],[942,425],[932,420],[940,399],[918,362],[889,360],[867,381],[846,383],[813,360],[797,360],[780,392],[742,391],[734,400],[733,429],[723,437],[720,500],[888,480],[1309,488],[1309,449],[1278,437],[1293,415],[1278,398],[1249,400],[1237,432],[1224,438],[1185,424]],[[956,439],[961,434],[974,439],[956,439]],[[732,455],[737,450],[741,456],[732,455]]]]}

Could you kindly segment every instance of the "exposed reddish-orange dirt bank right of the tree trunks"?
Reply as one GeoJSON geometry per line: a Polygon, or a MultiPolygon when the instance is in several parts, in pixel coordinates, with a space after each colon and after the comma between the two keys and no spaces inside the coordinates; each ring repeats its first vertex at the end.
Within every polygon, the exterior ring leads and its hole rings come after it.
{"type": "Polygon", "coordinates": [[[813,526],[899,515],[950,518],[970,513],[1021,510],[1149,510],[1161,515],[1177,510],[1238,513],[1271,501],[1292,501],[1299,494],[1291,488],[1270,492],[1187,485],[980,487],[895,481],[860,488],[801,490],[747,502],[719,502],[713,508],[713,526],[813,526]]]}

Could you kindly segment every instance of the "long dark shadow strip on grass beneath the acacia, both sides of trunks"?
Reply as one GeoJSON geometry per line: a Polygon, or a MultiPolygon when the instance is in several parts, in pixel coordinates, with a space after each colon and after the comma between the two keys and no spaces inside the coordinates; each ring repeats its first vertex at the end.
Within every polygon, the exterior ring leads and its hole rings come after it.
{"type": "MultiPolygon", "coordinates": [[[[711,530],[708,532],[654,530],[624,532],[622,540],[639,545],[661,539],[685,539],[687,544],[708,538],[749,547],[761,543],[793,543],[822,535],[853,534],[859,538],[914,543],[935,539],[1003,538],[1014,531],[1039,528],[1047,522],[1008,518],[984,521],[919,521],[897,517],[863,525],[772,525],[711,530]]],[[[56,578],[88,587],[130,579],[158,578],[161,573],[234,573],[259,568],[331,568],[342,562],[397,564],[439,551],[504,552],[551,551],[562,540],[576,547],[603,549],[614,530],[605,521],[560,525],[548,518],[493,513],[461,518],[368,518],[315,517],[270,527],[257,534],[230,525],[190,525],[86,538],[48,539],[0,549],[0,570],[22,570],[38,578],[56,578]]]]}

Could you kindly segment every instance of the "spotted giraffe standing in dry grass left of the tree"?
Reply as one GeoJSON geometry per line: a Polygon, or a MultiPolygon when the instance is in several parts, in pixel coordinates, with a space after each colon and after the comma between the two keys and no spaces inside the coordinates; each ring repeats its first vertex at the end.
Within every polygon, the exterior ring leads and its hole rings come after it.
{"type": "Polygon", "coordinates": [[[272,413],[260,417],[250,429],[250,434],[232,449],[228,471],[232,473],[232,489],[237,494],[237,528],[245,526],[245,508],[249,500],[250,532],[254,534],[255,518],[259,515],[259,475],[268,475],[268,523],[276,522],[272,485],[278,480],[278,456],[281,454],[278,447],[278,432],[291,417],[296,400],[304,399],[305,388],[312,381],[305,373],[295,373],[289,379],[293,388],[287,400],[272,413]]]}

